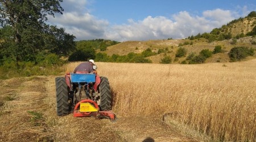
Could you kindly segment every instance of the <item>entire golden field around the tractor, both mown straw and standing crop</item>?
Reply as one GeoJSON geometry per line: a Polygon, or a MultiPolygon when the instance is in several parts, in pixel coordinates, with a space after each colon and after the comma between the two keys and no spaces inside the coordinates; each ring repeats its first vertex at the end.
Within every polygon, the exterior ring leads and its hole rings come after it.
{"type": "MultiPolygon", "coordinates": [[[[96,63],[112,86],[116,123],[57,116],[56,76],[0,80],[0,141],[255,141],[255,59],[96,63]]],[[[71,72],[78,64],[65,68],[71,72]]]]}

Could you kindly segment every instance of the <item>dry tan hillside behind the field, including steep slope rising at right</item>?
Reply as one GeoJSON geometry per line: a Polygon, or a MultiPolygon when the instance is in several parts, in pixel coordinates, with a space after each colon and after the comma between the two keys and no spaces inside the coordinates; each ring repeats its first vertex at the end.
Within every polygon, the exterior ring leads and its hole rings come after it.
{"type": "MultiPolygon", "coordinates": [[[[251,12],[254,14],[254,12],[251,12]]],[[[210,33],[199,34],[197,36],[189,36],[187,39],[163,39],[163,40],[148,40],[148,41],[124,41],[119,44],[109,46],[106,51],[108,56],[127,55],[128,53],[142,53],[147,48],[152,52],[158,53],[159,50],[164,50],[163,53],[147,57],[152,63],[159,63],[163,57],[170,56],[172,64],[180,64],[186,57],[195,53],[196,55],[203,49],[213,49],[220,45],[223,49],[222,53],[214,54],[205,62],[227,62],[229,60],[228,53],[234,47],[248,47],[256,49],[256,37],[246,36],[247,33],[253,31],[256,27],[256,17],[246,16],[245,18],[235,19],[232,22],[220,27],[214,28],[210,33]],[[185,57],[177,58],[175,54],[177,49],[183,47],[187,50],[185,57]]],[[[101,51],[98,51],[101,52],[101,51]]],[[[254,59],[256,56],[248,57],[247,59],[254,59]]]]}

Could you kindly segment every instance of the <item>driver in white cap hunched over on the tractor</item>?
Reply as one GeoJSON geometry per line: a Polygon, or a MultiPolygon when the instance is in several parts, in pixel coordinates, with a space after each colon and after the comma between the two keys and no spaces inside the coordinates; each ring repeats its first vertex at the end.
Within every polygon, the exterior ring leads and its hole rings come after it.
{"type": "MultiPolygon", "coordinates": [[[[97,74],[97,67],[93,68],[94,61],[90,59],[88,62],[82,62],[73,71],[73,73],[95,73],[97,74]]],[[[96,65],[95,65],[96,66],[96,65]]]]}

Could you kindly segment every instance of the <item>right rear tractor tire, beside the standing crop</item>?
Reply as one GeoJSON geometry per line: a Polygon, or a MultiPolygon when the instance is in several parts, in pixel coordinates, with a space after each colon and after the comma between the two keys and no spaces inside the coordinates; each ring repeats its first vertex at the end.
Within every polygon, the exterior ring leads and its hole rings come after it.
{"type": "Polygon", "coordinates": [[[106,77],[100,77],[101,83],[99,85],[100,94],[101,94],[101,110],[111,110],[112,94],[110,91],[109,80],[106,77]]]}

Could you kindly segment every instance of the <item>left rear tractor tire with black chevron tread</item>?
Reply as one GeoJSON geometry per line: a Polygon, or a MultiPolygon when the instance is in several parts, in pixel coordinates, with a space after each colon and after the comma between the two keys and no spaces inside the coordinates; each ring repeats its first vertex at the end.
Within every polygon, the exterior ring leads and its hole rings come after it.
{"type": "Polygon", "coordinates": [[[64,116],[69,113],[69,98],[68,98],[68,85],[65,77],[56,77],[56,102],[57,102],[57,115],[64,116]]]}

